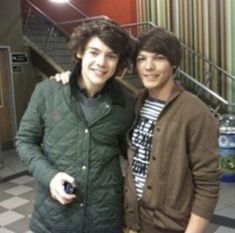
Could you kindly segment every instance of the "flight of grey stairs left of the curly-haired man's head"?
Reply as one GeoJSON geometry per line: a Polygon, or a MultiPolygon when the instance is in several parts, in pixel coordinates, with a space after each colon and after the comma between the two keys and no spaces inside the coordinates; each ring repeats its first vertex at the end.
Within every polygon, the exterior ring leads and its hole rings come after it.
{"type": "MultiPolygon", "coordinates": [[[[42,57],[54,71],[72,68],[71,54],[67,47],[68,34],[56,22],[40,12],[31,2],[24,23],[24,40],[30,46],[33,61],[42,57]]],[[[38,60],[35,62],[38,63],[38,60]]],[[[39,62],[40,65],[40,62],[39,62]]]]}

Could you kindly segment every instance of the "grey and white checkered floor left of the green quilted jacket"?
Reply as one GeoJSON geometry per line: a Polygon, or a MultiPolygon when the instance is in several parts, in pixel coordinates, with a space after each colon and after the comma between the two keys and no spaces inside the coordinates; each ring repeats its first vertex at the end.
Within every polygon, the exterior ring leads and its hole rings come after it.
{"type": "Polygon", "coordinates": [[[21,176],[0,184],[0,233],[31,233],[28,229],[34,180],[21,176]]]}

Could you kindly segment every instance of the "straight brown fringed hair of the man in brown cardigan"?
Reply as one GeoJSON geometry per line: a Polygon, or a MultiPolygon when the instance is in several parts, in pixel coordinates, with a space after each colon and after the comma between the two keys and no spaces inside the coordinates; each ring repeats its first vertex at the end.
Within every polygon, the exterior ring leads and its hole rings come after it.
{"type": "Polygon", "coordinates": [[[140,50],[164,55],[176,68],[181,62],[181,44],[179,39],[165,28],[156,27],[144,31],[136,40],[134,62],[140,50]]]}

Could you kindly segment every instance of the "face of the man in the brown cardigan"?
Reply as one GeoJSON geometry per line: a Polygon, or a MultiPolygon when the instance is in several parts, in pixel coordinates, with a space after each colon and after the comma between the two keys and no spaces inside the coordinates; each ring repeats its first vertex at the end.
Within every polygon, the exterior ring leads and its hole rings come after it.
{"type": "Polygon", "coordinates": [[[138,75],[150,96],[167,100],[174,85],[173,67],[167,58],[141,50],[136,61],[138,75]]]}

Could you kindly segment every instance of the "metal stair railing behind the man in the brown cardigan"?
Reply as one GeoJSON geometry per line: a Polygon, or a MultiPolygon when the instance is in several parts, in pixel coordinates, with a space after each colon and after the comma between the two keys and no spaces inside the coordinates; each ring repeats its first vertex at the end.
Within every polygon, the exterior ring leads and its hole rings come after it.
{"type": "MultiPolygon", "coordinates": [[[[144,30],[157,27],[157,25],[153,22],[142,22],[126,24],[123,27],[133,37],[136,37],[144,30]]],[[[190,91],[203,97],[202,99],[208,105],[211,104],[211,110],[215,115],[227,111],[235,112],[235,103],[227,98],[228,83],[234,82],[235,77],[184,43],[181,45],[183,50],[182,65],[178,69],[176,78],[190,91]]]]}

